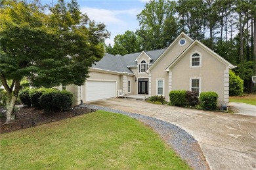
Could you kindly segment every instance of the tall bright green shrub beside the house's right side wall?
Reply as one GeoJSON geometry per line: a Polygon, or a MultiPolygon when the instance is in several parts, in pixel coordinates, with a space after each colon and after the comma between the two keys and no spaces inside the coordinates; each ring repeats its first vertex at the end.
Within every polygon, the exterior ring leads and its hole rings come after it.
{"type": "Polygon", "coordinates": [[[244,81],[232,70],[229,71],[229,95],[240,96],[244,91],[244,81]]]}

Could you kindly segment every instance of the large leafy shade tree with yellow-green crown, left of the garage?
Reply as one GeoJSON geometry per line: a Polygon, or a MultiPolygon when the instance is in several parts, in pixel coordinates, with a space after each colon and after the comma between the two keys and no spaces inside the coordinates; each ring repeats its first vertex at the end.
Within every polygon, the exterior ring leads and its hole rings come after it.
{"type": "Polygon", "coordinates": [[[104,24],[81,14],[75,0],[45,8],[39,1],[1,1],[0,80],[7,91],[7,121],[15,119],[20,81],[53,87],[82,85],[89,67],[104,56],[104,24]],[[11,81],[11,83],[7,83],[11,81]]]}

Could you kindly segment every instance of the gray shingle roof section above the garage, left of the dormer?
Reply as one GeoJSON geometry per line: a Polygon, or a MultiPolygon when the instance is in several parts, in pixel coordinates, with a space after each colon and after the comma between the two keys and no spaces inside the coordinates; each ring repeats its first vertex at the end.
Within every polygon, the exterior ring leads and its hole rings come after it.
{"type": "Polygon", "coordinates": [[[92,68],[100,69],[100,70],[108,70],[112,72],[120,72],[120,73],[127,73],[127,74],[133,74],[129,68],[127,68],[127,65],[125,64],[125,61],[123,60],[123,56],[121,55],[112,55],[105,53],[105,56],[93,64],[92,68]]]}

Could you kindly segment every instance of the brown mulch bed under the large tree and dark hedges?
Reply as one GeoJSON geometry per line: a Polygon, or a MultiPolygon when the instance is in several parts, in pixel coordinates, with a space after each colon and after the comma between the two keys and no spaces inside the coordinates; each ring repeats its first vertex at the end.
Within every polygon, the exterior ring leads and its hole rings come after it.
{"type": "Polygon", "coordinates": [[[6,116],[1,114],[0,133],[25,129],[28,127],[33,127],[95,111],[96,110],[89,108],[74,107],[66,112],[45,112],[44,110],[39,110],[33,107],[28,108],[24,106],[18,106],[18,110],[16,111],[16,121],[13,123],[5,124],[6,116]]]}

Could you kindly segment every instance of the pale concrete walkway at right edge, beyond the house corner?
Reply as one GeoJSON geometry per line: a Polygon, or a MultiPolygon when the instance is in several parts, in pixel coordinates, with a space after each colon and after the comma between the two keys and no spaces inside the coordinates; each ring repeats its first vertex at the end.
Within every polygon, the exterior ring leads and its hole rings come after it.
{"type": "Polygon", "coordinates": [[[234,114],[256,116],[256,106],[242,102],[229,102],[228,104],[234,114]]]}

